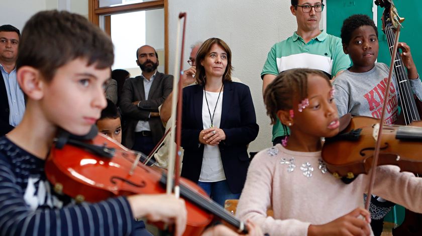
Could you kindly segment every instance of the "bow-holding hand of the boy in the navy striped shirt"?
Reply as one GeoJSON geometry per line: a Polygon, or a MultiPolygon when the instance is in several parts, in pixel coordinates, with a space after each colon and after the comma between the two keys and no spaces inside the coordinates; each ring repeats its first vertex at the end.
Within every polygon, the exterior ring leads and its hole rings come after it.
{"type": "Polygon", "coordinates": [[[146,217],[150,221],[175,224],[174,235],[180,236],[186,228],[187,212],[185,202],[173,194],[144,194],[128,196],[135,218],[146,217]]]}

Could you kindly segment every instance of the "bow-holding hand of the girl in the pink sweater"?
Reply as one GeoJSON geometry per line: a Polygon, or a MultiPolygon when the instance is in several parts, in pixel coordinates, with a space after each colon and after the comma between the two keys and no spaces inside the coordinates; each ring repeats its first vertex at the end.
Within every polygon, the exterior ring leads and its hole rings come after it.
{"type": "Polygon", "coordinates": [[[308,236],[313,235],[371,235],[371,215],[369,211],[358,207],[350,213],[343,215],[329,223],[322,225],[309,225],[308,236]],[[362,217],[364,219],[362,219],[362,217]]]}

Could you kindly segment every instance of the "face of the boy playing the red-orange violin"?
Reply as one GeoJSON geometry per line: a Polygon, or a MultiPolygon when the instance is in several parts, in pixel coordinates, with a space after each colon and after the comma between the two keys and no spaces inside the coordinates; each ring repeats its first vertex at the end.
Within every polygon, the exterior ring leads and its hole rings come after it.
{"type": "Polygon", "coordinates": [[[57,69],[52,81],[41,82],[42,113],[51,126],[75,135],[88,133],[107,106],[104,85],[110,68],[87,66],[87,60],[75,59],[57,69]]]}

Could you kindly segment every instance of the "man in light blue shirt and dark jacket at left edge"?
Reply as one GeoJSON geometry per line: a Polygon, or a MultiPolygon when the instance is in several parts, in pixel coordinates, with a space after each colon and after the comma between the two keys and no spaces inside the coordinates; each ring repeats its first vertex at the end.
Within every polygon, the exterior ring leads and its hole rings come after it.
{"type": "Polygon", "coordinates": [[[16,79],[16,59],[21,33],[0,26],[0,136],[17,126],[24,116],[25,98],[16,79]]]}

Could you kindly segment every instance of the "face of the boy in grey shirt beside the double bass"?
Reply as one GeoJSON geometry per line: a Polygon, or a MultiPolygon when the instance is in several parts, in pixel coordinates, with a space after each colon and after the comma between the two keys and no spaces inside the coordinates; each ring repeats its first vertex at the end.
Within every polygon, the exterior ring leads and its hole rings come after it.
{"type": "Polygon", "coordinates": [[[363,73],[375,66],[378,57],[378,38],[372,26],[361,26],[353,31],[349,44],[343,50],[349,54],[353,66],[351,72],[363,73]]]}

